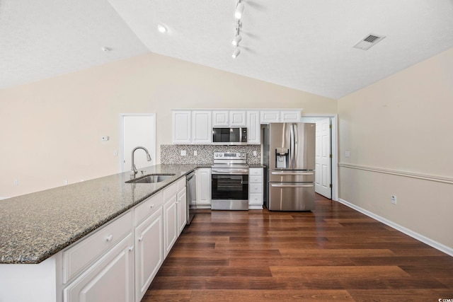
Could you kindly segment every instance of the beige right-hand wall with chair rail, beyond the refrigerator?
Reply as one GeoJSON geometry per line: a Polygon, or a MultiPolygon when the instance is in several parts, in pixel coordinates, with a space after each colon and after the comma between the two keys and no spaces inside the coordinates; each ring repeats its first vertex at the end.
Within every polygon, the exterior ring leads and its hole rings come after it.
{"type": "Polygon", "coordinates": [[[453,49],[338,100],[340,199],[453,248],[453,184],[357,169],[453,181],[452,114],[453,49]]]}

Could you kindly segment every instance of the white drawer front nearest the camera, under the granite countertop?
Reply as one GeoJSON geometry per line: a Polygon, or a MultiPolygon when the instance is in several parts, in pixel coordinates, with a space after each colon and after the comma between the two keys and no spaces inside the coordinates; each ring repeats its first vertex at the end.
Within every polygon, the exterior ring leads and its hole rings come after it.
{"type": "Polygon", "coordinates": [[[132,231],[132,211],[108,223],[88,238],[63,252],[63,283],[82,271],[86,265],[112,248],[123,236],[132,231]]]}

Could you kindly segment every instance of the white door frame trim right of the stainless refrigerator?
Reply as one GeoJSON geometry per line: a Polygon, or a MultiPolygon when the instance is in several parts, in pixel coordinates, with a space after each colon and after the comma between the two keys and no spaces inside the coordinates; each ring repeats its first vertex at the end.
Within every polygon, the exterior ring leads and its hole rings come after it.
{"type": "Polygon", "coordinates": [[[332,164],[331,164],[331,177],[332,177],[332,200],[338,202],[338,115],[337,114],[316,114],[302,112],[302,118],[304,117],[330,117],[332,119],[332,137],[331,137],[331,149],[332,149],[332,164]]]}

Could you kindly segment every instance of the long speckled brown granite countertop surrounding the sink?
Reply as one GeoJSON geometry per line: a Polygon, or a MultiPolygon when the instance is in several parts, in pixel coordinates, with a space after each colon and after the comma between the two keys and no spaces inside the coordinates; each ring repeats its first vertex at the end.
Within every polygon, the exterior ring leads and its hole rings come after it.
{"type": "Polygon", "coordinates": [[[140,170],[144,175],[175,175],[156,184],[132,184],[125,183],[130,180],[125,172],[1,200],[0,263],[42,262],[195,168],[207,166],[153,165],[140,170]]]}

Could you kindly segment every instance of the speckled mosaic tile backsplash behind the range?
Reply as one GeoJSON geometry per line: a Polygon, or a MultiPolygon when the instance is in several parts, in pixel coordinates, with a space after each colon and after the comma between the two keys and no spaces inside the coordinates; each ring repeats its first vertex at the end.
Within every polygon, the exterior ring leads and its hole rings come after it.
{"type": "Polygon", "coordinates": [[[245,152],[249,165],[261,163],[261,146],[219,146],[219,145],[161,145],[161,163],[163,164],[212,164],[214,152],[245,152]],[[181,156],[181,151],[186,155],[181,156]],[[197,155],[194,155],[196,151],[197,155]],[[256,151],[256,156],[253,156],[256,151]]]}

